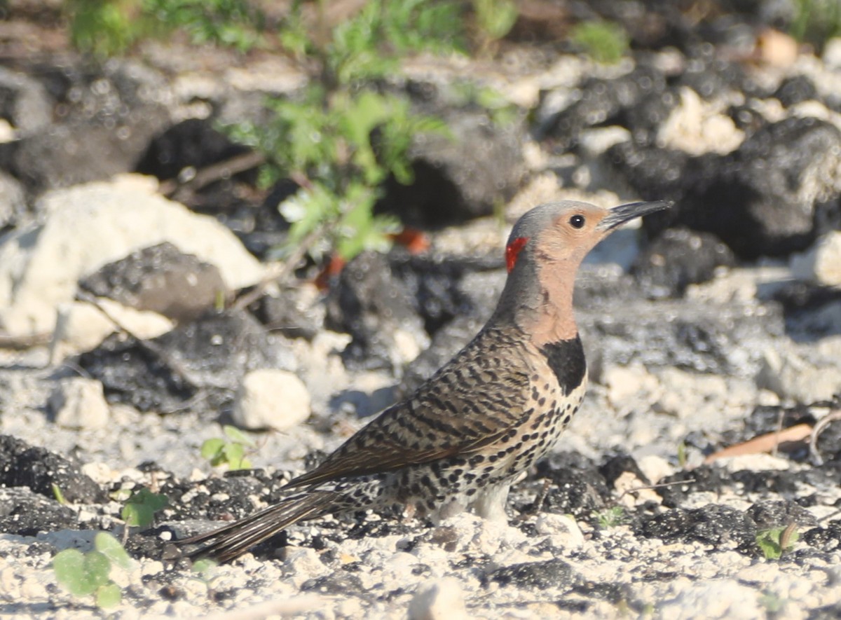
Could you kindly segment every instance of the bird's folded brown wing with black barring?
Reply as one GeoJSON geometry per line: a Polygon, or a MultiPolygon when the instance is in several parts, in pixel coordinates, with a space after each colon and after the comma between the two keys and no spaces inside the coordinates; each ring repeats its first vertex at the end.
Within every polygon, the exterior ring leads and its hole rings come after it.
{"type": "Polygon", "coordinates": [[[530,414],[530,373],[517,340],[499,330],[480,332],[409,400],[386,409],[288,486],[397,470],[499,441],[530,414]]]}

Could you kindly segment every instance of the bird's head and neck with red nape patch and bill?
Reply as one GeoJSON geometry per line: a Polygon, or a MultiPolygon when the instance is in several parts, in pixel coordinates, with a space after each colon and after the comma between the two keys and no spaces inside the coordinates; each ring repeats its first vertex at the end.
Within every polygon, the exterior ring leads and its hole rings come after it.
{"type": "Polygon", "coordinates": [[[532,332],[537,322],[561,336],[574,333],[573,285],[584,256],[621,224],[670,206],[632,202],[606,209],[565,200],[533,208],[517,221],[505,245],[509,276],[496,315],[532,332]]]}

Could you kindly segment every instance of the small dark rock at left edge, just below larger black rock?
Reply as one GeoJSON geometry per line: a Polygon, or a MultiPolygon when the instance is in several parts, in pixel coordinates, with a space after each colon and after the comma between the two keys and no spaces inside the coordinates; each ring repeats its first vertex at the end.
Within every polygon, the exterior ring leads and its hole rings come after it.
{"type": "Polygon", "coordinates": [[[78,529],[76,512],[27,487],[0,488],[0,532],[34,536],[39,532],[78,529]]]}

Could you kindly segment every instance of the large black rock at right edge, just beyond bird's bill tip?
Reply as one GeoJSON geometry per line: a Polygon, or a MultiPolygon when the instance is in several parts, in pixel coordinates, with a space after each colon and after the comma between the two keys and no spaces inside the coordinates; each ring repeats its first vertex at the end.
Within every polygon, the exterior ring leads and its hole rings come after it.
{"type": "Polygon", "coordinates": [[[772,123],[723,156],[706,182],[690,178],[669,215],[673,224],[716,234],[743,258],[803,250],[815,237],[817,208],[841,193],[839,160],[841,131],[832,124],[772,123]]]}

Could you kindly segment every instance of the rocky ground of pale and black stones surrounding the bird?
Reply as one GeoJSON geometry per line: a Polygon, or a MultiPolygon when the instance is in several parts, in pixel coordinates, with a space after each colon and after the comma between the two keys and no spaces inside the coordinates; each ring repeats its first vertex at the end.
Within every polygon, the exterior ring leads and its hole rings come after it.
{"type": "Polygon", "coordinates": [[[21,56],[4,31],[0,614],[107,615],[51,562],[122,536],[118,491],[147,487],[169,506],[111,575],[119,617],[841,617],[841,40],[798,48],[779,3],[700,22],[627,4],[656,19],[618,16],[619,66],[540,41],[410,61],[390,87],[458,139],[416,145],[417,184],[381,208],[428,247],[360,255],[326,288],[299,265],[242,307],[220,292],[271,273],[277,194],[251,169],[177,179],[235,166],[214,122],[302,76],[178,41],[21,56]],[[447,104],[466,76],[517,120],[447,104]],[[675,207],[584,265],[590,391],[507,525],[361,514],[202,575],[177,557],[168,541],[277,499],[466,343],[510,224],[564,197],[675,207]],[[251,469],[200,454],[225,424],[252,429],[251,469]]]}

